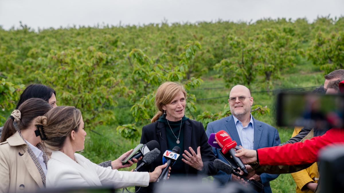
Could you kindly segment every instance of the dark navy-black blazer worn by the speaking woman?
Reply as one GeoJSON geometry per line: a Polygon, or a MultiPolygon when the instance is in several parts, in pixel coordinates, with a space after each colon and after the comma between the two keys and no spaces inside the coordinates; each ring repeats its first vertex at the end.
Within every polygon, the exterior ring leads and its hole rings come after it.
{"type": "MultiPolygon", "coordinates": [[[[162,154],[167,150],[166,130],[165,124],[155,121],[149,125],[143,126],[141,135],[141,144],[146,144],[148,141],[156,140],[160,144],[160,155],[150,165],[144,166],[139,171],[152,172],[157,166],[162,165],[162,154]]],[[[201,122],[194,120],[186,120],[184,123],[184,150],[189,150],[189,147],[197,153],[197,147],[201,146],[201,156],[204,169],[199,171],[184,163],[186,176],[194,175],[215,175],[217,170],[214,167],[215,155],[211,146],[208,144],[208,137],[205,134],[204,127],[201,122]]],[[[171,150],[171,149],[170,149],[171,150]]],[[[191,152],[190,152],[191,153],[191,152]]],[[[183,152],[180,152],[182,157],[183,152]]],[[[180,158],[180,159],[181,159],[180,158]]],[[[137,164],[141,164],[139,161],[137,164]]],[[[141,187],[139,192],[153,192],[155,183],[149,183],[148,187],[141,187]]],[[[136,190],[138,187],[136,187],[136,190]]]]}

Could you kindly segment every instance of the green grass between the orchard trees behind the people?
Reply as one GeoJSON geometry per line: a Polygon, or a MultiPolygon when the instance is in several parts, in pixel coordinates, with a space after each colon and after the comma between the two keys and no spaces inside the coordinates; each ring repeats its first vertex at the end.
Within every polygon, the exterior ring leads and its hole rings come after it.
{"type": "MultiPolygon", "coordinates": [[[[323,84],[323,72],[307,61],[301,61],[301,63],[301,65],[296,66],[294,69],[289,70],[288,73],[284,74],[281,80],[274,82],[274,89],[304,88],[323,84]]],[[[225,88],[225,84],[221,79],[214,78],[214,74],[214,72],[210,72],[207,76],[202,77],[204,80],[202,85],[197,89],[191,90],[190,93],[195,94],[197,99],[212,98],[215,96],[226,97],[213,100],[197,101],[197,111],[195,114],[193,114],[194,117],[204,111],[209,111],[212,113],[222,111],[224,105],[227,103],[227,96],[229,95],[230,89],[225,88]]],[[[274,108],[275,92],[255,92],[262,90],[265,89],[258,86],[251,87],[252,96],[254,97],[254,104],[260,104],[263,106],[267,105],[267,107],[271,109],[271,112],[270,115],[257,115],[255,118],[276,127],[274,108]]],[[[307,90],[312,90],[312,88],[307,90]]],[[[123,101],[122,104],[125,105],[126,102],[123,101]]],[[[118,125],[125,124],[126,121],[132,119],[130,107],[115,108],[114,113],[116,114],[116,122],[114,122],[113,125],[99,126],[95,130],[97,133],[89,131],[87,134],[85,150],[82,153],[95,163],[110,159],[114,160],[122,153],[133,148],[139,143],[139,140],[123,139],[116,132],[116,127],[118,125]]],[[[192,115],[187,116],[192,118],[192,115]]],[[[137,124],[140,127],[143,126],[140,123],[137,124]]],[[[291,137],[293,128],[276,128],[278,129],[282,143],[291,137]]],[[[131,170],[132,168],[135,167],[132,166],[131,168],[127,168],[125,170],[131,170]]],[[[208,178],[211,180],[212,177],[208,178]]],[[[270,184],[272,192],[295,192],[295,182],[290,174],[281,174],[277,179],[271,181],[270,184]]]]}

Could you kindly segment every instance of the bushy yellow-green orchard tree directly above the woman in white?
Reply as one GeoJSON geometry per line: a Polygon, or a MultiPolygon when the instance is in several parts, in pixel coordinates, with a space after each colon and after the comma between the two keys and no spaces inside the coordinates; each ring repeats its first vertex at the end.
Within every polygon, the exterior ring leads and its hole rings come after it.
{"type": "Polygon", "coordinates": [[[107,58],[93,46],[52,50],[32,77],[57,91],[58,104],[79,108],[85,123],[94,128],[115,119],[108,107],[116,106],[117,98],[128,92],[116,77],[116,68],[106,66],[107,58]]]}

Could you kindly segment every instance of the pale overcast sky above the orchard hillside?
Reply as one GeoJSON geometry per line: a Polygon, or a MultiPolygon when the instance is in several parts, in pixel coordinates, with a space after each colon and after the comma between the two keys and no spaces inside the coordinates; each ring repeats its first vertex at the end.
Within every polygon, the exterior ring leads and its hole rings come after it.
{"type": "Polygon", "coordinates": [[[343,0],[0,0],[0,25],[34,29],[344,15],[343,0]]]}

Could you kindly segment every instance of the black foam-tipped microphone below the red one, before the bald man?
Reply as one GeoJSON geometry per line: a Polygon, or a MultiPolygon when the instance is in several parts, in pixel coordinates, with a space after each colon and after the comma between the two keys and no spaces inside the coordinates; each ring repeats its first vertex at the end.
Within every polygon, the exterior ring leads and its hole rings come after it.
{"type": "Polygon", "coordinates": [[[252,188],[255,189],[257,192],[261,192],[263,190],[263,188],[264,188],[263,184],[255,181],[255,180],[249,180],[249,179],[245,178],[244,176],[236,173],[232,166],[229,166],[227,163],[225,163],[225,162],[223,162],[223,161],[221,161],[219,159],[215,159],[214,160],[214,167],[216,169],[219,169],[219,170],[225,172],[226,174],[229,174],[229,175],[230,174],[234,174],[237,177],[240,177],[240,178],[244,179],[244,181],[246,181],[247,183],[251,184],[252,188]]]}

